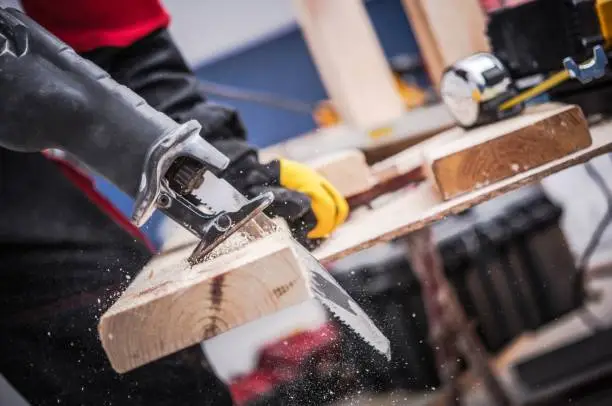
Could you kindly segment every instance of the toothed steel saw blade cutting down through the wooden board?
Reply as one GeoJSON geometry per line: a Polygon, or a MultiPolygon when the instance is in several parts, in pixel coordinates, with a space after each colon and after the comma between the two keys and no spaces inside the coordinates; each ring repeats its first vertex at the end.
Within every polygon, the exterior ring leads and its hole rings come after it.
{"type": "MultiPolygon", "coordinates": [[[[248,199],[227,181],[210,173],[206,174],[205,181],[194,195],[204,207],[213,211],[237,210],[248,202],[248,199]]],[[[272,229],[276,228],[274,222],[267,216],[262,214],[261,218],[269,221],[272,229]]],[[[317,301],[345,326],[351,328],[364,342],[390,359],[391,346],[387,337],[327,269],[302,244],[294,238],[292,241],[293,249],[309,271],[312,290],[317,301]]]]}

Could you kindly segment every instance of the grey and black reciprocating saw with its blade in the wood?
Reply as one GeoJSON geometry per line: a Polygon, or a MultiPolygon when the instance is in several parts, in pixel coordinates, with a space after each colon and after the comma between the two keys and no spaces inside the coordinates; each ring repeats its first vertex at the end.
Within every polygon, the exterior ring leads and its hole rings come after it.
{"type": "MultiPolygon", "coordinates": [[[[200,239],[192,265],[255,216],[267,219],[262,212],[273,195],[248,200],[218,177],[229,159],[200,135],[200,123],[179,125],[11,8],[0,8],[0,92],[1,147],[73,156],[134,198],[138,226],[161,210],[200,239]]],[[[319,302],[389,357],[386,337],[294,243],[319,302]]]]}

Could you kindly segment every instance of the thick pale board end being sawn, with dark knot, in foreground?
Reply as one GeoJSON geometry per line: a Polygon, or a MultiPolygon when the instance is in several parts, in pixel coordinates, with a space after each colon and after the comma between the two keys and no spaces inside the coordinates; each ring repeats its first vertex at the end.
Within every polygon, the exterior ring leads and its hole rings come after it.
{"type": "Polygon", "coordinates": [[[195,267],[193,245],[154,258],[102,316],[99,334],[122,373],[311,299],[287,233],[237,233],[195,267]]]}

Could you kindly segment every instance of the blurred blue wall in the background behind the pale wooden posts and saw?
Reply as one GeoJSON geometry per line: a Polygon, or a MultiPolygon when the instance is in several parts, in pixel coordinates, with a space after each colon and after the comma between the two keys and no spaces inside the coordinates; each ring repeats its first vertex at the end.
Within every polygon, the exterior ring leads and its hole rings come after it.
{"type": "MultiPolygon", "coordinates": [[[[342,0],[333,0],[342,1],[342,0]]],[[[400,0],[372,0],[366,3],[387,57],[418,53],[400,0]]],[[[251,49],[199,67],[197,75],[207,81],[245,89],[264,91],[305,102],[325,99],[316,68],[296,26],[251,49]]],[[[315,128],[310,115],[298,114],[250,102],[211,98],[238,109],[249,131],[251,142],[265,147],[315,128]]],[[[106,181],[98,187],[118,208],[129,215],[132,200],[106,181]]],[[[145,231],[159,243],[157,227],[162,216],[156,215],[145,231]]]]}

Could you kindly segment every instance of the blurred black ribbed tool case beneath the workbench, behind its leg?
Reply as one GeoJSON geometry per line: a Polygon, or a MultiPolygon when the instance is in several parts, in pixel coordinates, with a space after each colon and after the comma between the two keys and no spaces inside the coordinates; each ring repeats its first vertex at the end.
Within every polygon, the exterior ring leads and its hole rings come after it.
{"type": "MultiPolygon", "coordinates": [[[[489,351],[582,305],[582,278],[560,217],[561,209],[533,186],[434,226],[446,274],[489,351]]],[[[389,337],[390,386],[427,389],[438,377],[408,255],[398,240],[331,271],[389,337]]]]}

